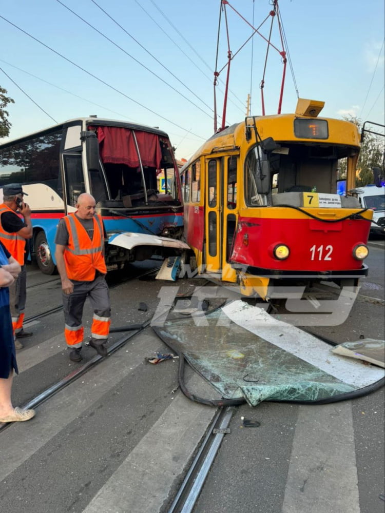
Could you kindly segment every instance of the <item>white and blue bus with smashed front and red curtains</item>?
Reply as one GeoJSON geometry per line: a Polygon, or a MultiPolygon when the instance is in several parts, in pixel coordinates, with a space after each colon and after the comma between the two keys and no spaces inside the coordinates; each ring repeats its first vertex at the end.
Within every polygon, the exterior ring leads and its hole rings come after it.
{"type": "Polygon", "coordinates": [[[178,166],[158,128],[89,116],[8,141],[0,144],[0,202],[10,183],[28,193],[30,254],[45,274],[56,272],[57,223],[83,192],[104,221],[108,270],[186,246],[178,166]]]}

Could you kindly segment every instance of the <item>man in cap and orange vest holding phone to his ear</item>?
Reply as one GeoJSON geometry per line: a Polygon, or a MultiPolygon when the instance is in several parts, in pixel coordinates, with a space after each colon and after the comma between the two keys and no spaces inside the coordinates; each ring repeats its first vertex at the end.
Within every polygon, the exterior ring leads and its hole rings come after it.
{"type": "Polygon", "coordinates": [[[27,271],[24,257],[26,239],[32,238],[31,209],[24,203],[20,184],[8,184],[3,187],[3,203],[0,204],[0,241],[22,267],[22,272],[9,287],[15,348],[22,349],[20,338],[29,337],[31,332],[23,328],[24,309],[27,298],[27,271]]]}

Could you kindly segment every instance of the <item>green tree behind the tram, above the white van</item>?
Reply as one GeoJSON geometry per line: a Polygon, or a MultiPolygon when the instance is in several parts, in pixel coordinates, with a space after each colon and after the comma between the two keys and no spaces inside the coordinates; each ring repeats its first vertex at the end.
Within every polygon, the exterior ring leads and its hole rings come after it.
{"type": "MultiPolygon", "coordinates": [[[[362,128],[362,120],[358,117],[343,116],[343,119],[354,123],[359,132],[362,128]]],[[[373,131],[377,131],[376,128],[371,127],[373,131]]],[[[370,128],[370,129],[371,129],[370,128]]],[[[383,155],[384,155],[384,137],[383,135],[377,135],[374,133],[364,132],[363,141],[361,143],[361,150],[357,162],[358,177],[356,177],[356,186],[363,187],[374,183],[373,178],[373,167],[383,167],[383,155]]]]}

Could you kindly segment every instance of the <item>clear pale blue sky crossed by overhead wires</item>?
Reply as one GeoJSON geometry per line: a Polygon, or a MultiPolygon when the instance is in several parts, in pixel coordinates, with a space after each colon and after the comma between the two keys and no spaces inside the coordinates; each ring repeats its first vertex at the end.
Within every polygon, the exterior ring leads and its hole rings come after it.
{"type": "MultiPolygon", "coordinates": [[[[223,11],[219,24],[220,0],[0,0],[0,6],[0,87],[15,102],[7,107],[10,139],[96,114],[157,126],[177,159],[188,159],[214,133],[216,69],[222,124],[228,48],[235,56],[226,125],[244,119],[248,94],[251,114],[261,115],[263,73],[265,113],[278,112],[277,18],[266,64],[264,38],[256,34],[246,43],[252,26],[268,38],[269,0],[229,0],[228,31],[223,11]]],[[[281,112],[294,112],[299,96],[325,102],[321,116],[383,125],[383,0],[279,0],[278,6],[289,57],[281,112]]]]}

